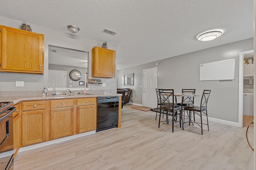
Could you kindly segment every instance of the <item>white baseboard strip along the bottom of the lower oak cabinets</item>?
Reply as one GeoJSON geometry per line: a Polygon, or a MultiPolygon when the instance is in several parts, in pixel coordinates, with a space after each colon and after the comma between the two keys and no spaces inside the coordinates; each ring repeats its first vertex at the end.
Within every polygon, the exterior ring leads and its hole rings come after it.
{"type": "Polygon", "coordinates": [[[93,134],[93,133],[96,133],[96,131],[90,131],[90,132],[86,132],[86,133],[80,133],[80,134],[77,134],[77,135],[72,135],[72,136],[68,136],[68,137],[63,137],[63,138],[60,138],[60,139],[55,139],[55,140],[48,141],[48,142],[44,142],[44,143],[38,143],[38,144],[31,145],[31,146],[28,146],[28,147],[22,147],[22,148],[19,149],[19,152],[23,152],[23,151],[31,150],[31,149],[36,149],[36,148],[44,147],[44,146],[47,146],[47,145],[52,145],[52,144],[54,144],[54,143],[59,143],[59,142],[63,142],[63,141],[68,141],[68,140],[70,140],[70,139],[75,139],[75,138],[78,138],[78,137],[83,137],[83,136],[90,135],[90,134],[93,134]]]}

